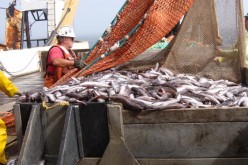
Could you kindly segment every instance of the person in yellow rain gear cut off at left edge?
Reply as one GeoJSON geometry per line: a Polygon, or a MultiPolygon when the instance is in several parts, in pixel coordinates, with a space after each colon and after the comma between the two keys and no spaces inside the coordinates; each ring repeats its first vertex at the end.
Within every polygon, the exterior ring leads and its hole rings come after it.
{"type": "MultiPolygon", "coordinates": [[[[14,95],[22,95],[20,91],[0,70],[0,90],[3,91],[7,96],[13,97],[14,95]]],[[[6,126],[2,119],[0,119],[0,164],[6,164],[5,158],[5,145],[7,142],[6,126]]]]}

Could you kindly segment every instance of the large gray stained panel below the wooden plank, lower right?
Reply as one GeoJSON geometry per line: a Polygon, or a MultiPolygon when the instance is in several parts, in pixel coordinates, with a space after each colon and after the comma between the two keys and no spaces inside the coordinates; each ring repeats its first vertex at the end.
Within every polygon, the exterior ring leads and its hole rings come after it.
{"type": "Polygon", "coordinates": [[[248,123],[167,123],[124,126],[138,158],[248,157],[248,123]]]}

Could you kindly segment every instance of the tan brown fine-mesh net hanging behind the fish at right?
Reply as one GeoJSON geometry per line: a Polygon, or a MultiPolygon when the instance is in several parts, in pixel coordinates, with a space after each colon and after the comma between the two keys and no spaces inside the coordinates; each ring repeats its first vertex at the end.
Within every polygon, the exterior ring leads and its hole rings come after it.
{"type": "Polygon", "coordinates": [[[241,1],[196,0],[169,47],[123,69],[151,68],[159,62],[175,73],[245,82],[243,19],[241,1]]]}

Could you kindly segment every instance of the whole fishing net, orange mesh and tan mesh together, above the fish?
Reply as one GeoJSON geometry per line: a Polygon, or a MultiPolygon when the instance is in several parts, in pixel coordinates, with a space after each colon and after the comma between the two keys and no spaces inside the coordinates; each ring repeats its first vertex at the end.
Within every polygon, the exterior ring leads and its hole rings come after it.
{"type": "Polygon", "coordinates": [[[85,57],[88,66],[70,71],[55,85],[67,82],[72,76],[81,77],[123,64],[123,69],[144,70],[157,62],[175,73],[189,73],[214,80],[246,81],[241,1],[146,2],[146,5],[141,5],[135,0],[128,1],[118,14],[112,31],[104,33],[103,40],[85,57]],[[132,6],[133,3],[140,5],[140,9],[132,6]],[[168,34],[182,17],[180,30],[167,48],[132,60],[168,34]]]}

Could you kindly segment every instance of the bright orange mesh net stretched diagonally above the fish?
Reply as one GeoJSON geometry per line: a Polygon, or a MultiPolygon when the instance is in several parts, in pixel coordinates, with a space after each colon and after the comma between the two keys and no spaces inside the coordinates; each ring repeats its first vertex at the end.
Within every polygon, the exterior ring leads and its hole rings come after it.
{"type": "Polygon", "coordinates": [[[118,39],[127,35],[143,16],[144,23],[140,28],[127,39],[122,47],[119,47],[109,56],[102,58],[87,70],[71,70],[57,81],[54,86],[66,83],[70,77],[81,77],[99,72],[131,60],[169,33],[193,2],[194,0],[146,0],[146,3],[139,4],[135,0],[130,1],[120,13],[112,33],[106,35],[103,42],[100,42],[91,50],[85,62],[90,64],[99,58],[118,39]]]}

